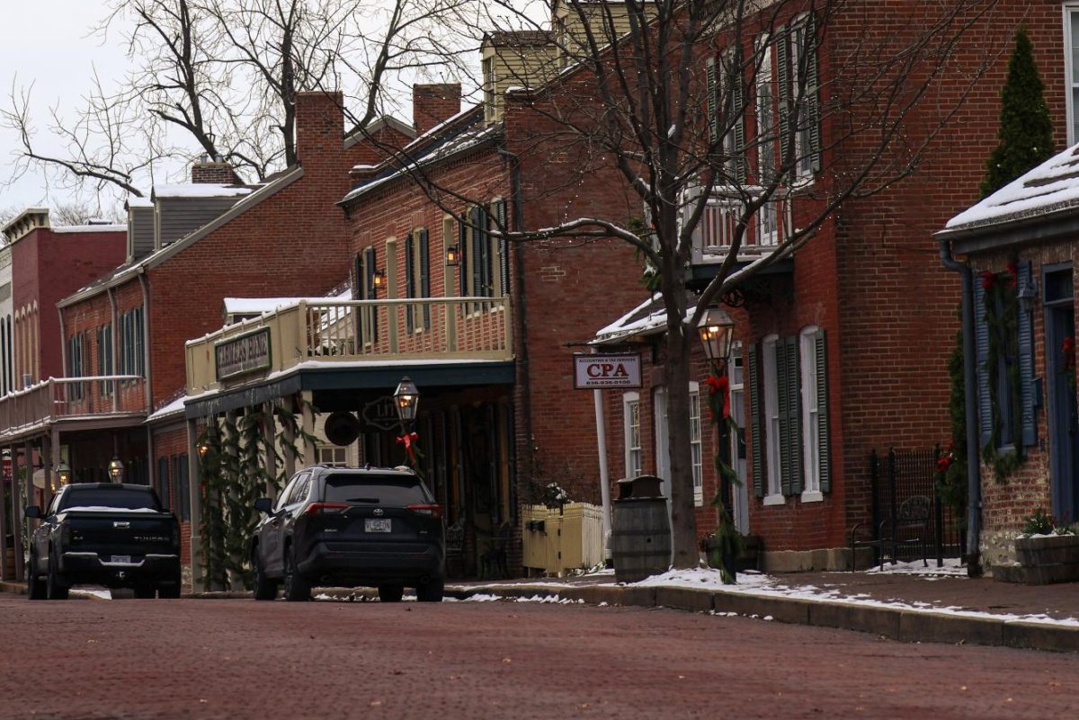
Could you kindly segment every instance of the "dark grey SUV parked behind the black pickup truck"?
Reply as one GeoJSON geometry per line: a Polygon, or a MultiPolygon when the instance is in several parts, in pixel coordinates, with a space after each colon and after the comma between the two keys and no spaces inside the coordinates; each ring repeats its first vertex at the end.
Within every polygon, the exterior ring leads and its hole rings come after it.
{"type": "Polygon", "coordinates": [[[255,599],[311,598],[313,585],[371,585],[383,603],[415,587],[439,603],[446,581],[442,508],[410,470],[304,468],[265,513],[250,540],[255,599]]]}

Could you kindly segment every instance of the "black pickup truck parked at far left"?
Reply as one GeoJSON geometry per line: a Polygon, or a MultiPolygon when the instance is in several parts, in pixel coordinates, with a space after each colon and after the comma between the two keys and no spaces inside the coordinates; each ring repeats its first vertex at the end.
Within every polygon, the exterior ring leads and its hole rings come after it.
{"type": "Polygon", "coordinates": [[[66,599],[76,584],[132,587],[136,597],[180,596],[180,526],[145,485],[62,487],[30,539],[28,595],[66,599]]]}

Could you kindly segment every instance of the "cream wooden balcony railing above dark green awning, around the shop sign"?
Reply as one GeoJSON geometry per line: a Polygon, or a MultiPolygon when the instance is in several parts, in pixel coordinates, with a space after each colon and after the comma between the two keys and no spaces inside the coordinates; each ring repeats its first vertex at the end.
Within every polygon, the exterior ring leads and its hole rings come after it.
{"type": "Polygon", "coordinates": [[[267,357],[251,366],[265,374],[310,361],[513,359],[508,297],[301,301],[188,341],[188,394],[228,383],[217,348],[262,329],[267,357]]]}

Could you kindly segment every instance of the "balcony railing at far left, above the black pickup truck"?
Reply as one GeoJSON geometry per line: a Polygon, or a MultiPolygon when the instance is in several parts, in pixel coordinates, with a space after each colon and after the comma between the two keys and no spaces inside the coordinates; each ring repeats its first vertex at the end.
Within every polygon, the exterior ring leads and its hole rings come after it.
{"type": "Polygon", "coordinates": [[[50,377],[0,398],[0,435],[50,420],[146,411],[146,379],[138,375],[50,377]]]}

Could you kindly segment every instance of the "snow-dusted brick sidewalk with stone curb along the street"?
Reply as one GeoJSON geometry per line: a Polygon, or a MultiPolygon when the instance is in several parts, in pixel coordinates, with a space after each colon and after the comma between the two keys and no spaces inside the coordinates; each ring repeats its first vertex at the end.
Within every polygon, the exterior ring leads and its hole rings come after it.
{"type": "MultiPolygon", "coordinates": [[[[22,583],[0,591],[25,593],[22,583]]],[[[452,600],[586,603],[669,607],[712,614],[874,633],[905,642],[955,642],[1079,652],[1079,585],[1017,585],[968,579],[955,560],[885,572],[739,573],[724,585],[710,569],[671,570],[619,584],[614,572],[568,578],[476,581],[447,585],[452,600]]],[[[106,596],[105,593],[96,595],[106,596]]],[[[74,595],[72,595],[74,596],[74,595]]],[[[326,589],[322,600],[368,600],[371,590],[326,589]]],[[[248,593],[188,597],[247,598],[248,593]]]]}

